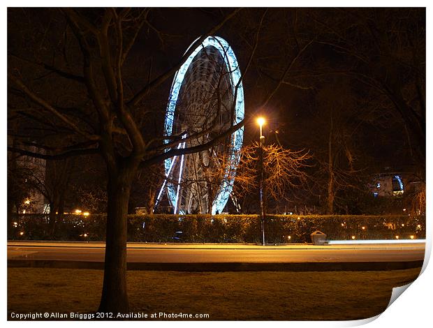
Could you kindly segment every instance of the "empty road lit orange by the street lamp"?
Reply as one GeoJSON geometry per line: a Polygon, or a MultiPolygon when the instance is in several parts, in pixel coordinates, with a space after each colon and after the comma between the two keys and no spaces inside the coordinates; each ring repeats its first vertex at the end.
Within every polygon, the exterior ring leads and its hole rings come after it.
{"type": "MultiPolygon", "coordinates": [[[[424,260],[425,244],[371,245],[212,245],[129,244],[128,262],[140,263],[291,263],[409,262],[424,260]]],[[[103,262],[103,243],[8,242],[8,261],[103,262]]]]}

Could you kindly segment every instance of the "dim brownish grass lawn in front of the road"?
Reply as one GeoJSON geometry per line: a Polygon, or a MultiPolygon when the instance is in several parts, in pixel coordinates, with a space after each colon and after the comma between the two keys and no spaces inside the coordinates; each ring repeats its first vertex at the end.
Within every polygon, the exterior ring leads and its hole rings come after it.
{"type": "MultiPolygon", "coordinates": [[[[383,312],[392,288],[413,281],[419,272],[128,271],[128,292],[131,311],[149,315],[182,312],[208,313],[206,320],[356,320],[383,312]]],[[[102,280],[101,270],[8,268],[8,313],[96,311],[102,280]]]]}

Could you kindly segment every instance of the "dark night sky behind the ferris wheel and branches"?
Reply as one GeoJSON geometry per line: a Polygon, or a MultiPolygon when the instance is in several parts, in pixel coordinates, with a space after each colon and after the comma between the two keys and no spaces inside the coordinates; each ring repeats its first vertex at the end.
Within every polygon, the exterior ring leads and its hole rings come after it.
{"type": "MultiPolygon", "coordinates": [[[[126,97],[175,65],[193,40],[231,10],[152,8],[124,64],[126,97]]],[[[80,13],[95,24],[101,20],[100,9],[80,13]]],[[[243,80],[245,144],[258,138],[254,117],[262,114],[268,142],[276,141],[277,131],[284,147],[325,156],[332,117],[336,147],[344,144],[346,153],[350,149],[359,169],[371,175],[386,167],[425,172],[425,144],[416,135],[423,130],[425,142],[425,107],[420,105],[425,103],[424,8],[246,8],[216,33],[233,47],[241,69],[254,48],[260,20],[258,45],[243,80]],[[421,127],[396,109],[396,94],[409,104],[406,112],[410,108],[421,117],[421,127]]],[[[77,45],[71,31],[65,33],[65,24],[56,8],[9,8],[8,72],[31,82],[57,105],[71,107],[85,101],[80,99],[85,91],[71,89],[38,66],[66,59],[61,66],[80,73],[77,45]],[[63,42],[69,47],[66,54],[63,42]]],[[[151,116],[142,120],[135,112],[143,135],[161,133],[172,80],[144,100],[154,110],[151,116]]],[[[36,129],[28,115],[17,123],[10,111],[27,106],[20,96],[9,84],[8,129],[17,126],[37,139],[46,131],[36,129]]]]}

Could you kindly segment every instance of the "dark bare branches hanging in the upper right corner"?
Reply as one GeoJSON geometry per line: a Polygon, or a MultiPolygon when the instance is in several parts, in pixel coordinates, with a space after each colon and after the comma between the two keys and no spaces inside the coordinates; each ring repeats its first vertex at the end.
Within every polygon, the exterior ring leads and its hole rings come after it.
{"type": "Polygon", "coordinates": [[[286,75],[296,87],[342,75],[374,91],[378,110],[397,114],[417,160],[425,162],[425,8],[297,10],[298,31],[316,36],[314,53],[286,75]],[[330,51],[338,61],[320,59],[330,51]]]}

